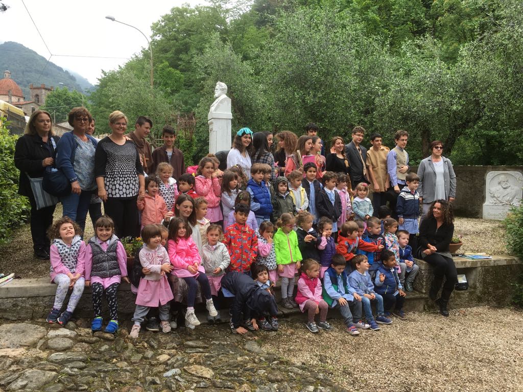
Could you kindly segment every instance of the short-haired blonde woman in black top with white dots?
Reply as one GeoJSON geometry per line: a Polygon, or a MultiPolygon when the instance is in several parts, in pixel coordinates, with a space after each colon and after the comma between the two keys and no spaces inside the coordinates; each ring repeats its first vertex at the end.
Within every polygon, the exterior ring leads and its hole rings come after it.
{"type": "Polygon", "coordinates": [[[132,141],[124,137],[127,117],[120,111],[109,114],[112,133],[96,147],[95,176],[98,197],[105,213],[115,222],[116,235],[138,237],[138,197],[145,195],[140,156],[132,141]]]}

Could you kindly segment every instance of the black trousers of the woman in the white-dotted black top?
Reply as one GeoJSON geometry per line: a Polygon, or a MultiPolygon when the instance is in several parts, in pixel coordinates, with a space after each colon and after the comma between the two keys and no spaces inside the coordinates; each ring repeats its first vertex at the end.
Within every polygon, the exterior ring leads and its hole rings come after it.
{"type": "Polygon", "coordinates": [[[105,213],[115,221],[115,232],[119,238],[138,237],[138,196],[130,199],[107,198],[105,213]]]}

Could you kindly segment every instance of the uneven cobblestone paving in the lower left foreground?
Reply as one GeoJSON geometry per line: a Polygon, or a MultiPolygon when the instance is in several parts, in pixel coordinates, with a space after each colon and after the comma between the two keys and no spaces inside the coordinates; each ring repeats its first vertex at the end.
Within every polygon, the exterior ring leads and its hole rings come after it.
{"type": "Polygon", "coordinates": [[[256,339],[262,332],[238,336],[222,324],[170,333],[142,329],[133,340],[126,328],[116,336],[93,335],[86,323],[0,326],[0,392],[346,390],[323,370],[261,349],[256,339]]]}

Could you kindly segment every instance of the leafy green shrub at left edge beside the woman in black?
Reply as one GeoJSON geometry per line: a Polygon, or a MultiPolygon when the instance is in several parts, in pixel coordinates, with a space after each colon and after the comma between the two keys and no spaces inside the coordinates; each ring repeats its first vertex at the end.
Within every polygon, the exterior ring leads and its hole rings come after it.
{"type": "Polygon", "coordinates": [[[9,241],[12,229],[27,221],[29,200],[18,194],[19,171],[15,167],[18,136],[9,135],[5,119],[0,123],[0,245],[9,241]]]}

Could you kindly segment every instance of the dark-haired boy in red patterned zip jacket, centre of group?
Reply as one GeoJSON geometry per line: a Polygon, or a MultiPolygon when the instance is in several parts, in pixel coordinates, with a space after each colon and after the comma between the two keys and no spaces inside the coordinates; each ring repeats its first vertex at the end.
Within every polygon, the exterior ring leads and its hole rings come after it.
{"type": "Polygon", "coordinates": [[[236,222],[225,229],[223,243],[231,255],[229,271],[251,274],[251,264],[258,255],[258,237],[254,230],[245,224],[249,216],[248,205],[237,204],[234,208],[236,222]]]}

